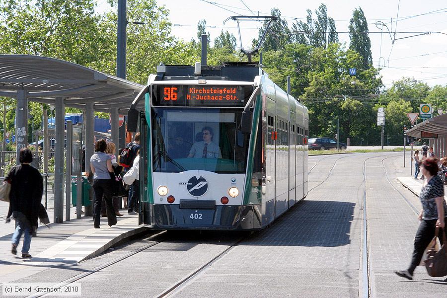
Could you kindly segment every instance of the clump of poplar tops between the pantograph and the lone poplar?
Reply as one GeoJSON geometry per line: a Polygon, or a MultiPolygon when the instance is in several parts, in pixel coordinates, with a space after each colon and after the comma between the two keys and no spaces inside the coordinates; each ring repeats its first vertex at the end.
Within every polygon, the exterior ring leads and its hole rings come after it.
{"type": "Polygon", "coordinates": [[[327,7],[321,4],[315,10],[316,20],[312,19],[312,11],[307,9],[306,22],[297,21],[292,24],[293,31],[302,31],[295,34],[293,42],[314,47],[326,48],[330,43],[338,42],[338,34],[333,18],[327,16],[327,7]]]}

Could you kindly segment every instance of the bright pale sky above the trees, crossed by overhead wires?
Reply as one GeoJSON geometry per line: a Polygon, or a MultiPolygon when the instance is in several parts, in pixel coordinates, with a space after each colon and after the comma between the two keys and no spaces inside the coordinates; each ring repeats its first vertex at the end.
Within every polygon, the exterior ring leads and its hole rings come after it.
{"type": "MultiPolygon", "coordinates": [[[[98,12],[110,10],[105,0],[97,2],[98,12]]],[[[269,15],[272,8],[278,8],[291,27],[296,20],[305,22],[306,9],[312,10],[316,17],[315,9],[324,3],[327,15],[335,20],[337,31],[347,32],[353,10],[361,7],[368,21],[373,66],[378,68],[380,64],[385,88],[402,76],[413,77],[430,86],[447,85],[447,2],[444,0],[157,0],[157,3],[169,9],[173,35],[186,41],[197,40],[197,23],[205,19],[212,41],[221,30],[228,30],[236,37],[238,46],[236,23],[228,20],[223,24],[233,15],[269,15]],[[378,21],[386,27],[376,25],[378,21]],[[405,31],[415,33],[401,33],[405,31]],[[444,34],[419,35],[425,32],[444,34]]],[[[249,48],[251,40],[258,36],[257,23],[241,22],[240,27],[242,46],[249,48]]],[[[349,47],[347,33],[339,33],[338,37],[349,47]]]]}

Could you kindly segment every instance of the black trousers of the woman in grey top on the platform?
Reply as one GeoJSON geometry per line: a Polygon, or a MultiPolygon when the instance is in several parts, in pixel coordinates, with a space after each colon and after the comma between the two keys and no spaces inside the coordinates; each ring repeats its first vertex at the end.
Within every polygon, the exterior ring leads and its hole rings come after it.
{"type": "Polygon", "coordinates": [[[101,221],[101,203],[102,198],[106,202],[107,207],[107,221],[110,226],[116,224],[116,214],[112,205],[112,180],[110,179],[94,179],[93,191],[95,193],[95,200],[93,203],[93,224],[99,227],[101,221]]]}

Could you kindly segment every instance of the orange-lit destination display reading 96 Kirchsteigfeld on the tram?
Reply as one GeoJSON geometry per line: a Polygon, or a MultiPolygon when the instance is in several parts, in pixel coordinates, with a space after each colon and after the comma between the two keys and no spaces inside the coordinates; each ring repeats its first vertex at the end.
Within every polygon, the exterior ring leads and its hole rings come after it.
{"type": "Polygon", "coordinates": [[[153,85],[154,106],[240,106],[253,91],[244,85],[153,85]]]}

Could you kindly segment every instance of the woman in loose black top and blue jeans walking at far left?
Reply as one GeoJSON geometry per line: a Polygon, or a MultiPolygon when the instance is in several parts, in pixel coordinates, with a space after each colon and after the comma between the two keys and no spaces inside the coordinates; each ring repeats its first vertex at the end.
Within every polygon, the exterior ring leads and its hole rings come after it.
{"type": "Polygon", "coordinates": [[[13,167],[5,178],[11,183],[7,219],[12,216],[16,224],[12,235],[11,253],[17,254],[17,245],[23,234],[22,258],[31,258],[29,254],[31,237],[37,229],[39,206],[43,193],[42,175],[30,165],[32,160],[33,154],[30,149],[20,149],[20,164],[13,167]]]}

